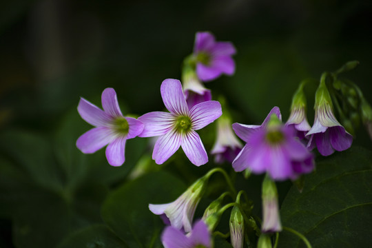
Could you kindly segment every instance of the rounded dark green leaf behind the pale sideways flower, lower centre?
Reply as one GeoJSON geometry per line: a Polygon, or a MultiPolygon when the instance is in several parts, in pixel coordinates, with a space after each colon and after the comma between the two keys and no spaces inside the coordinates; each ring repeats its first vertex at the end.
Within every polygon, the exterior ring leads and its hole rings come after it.
{"type": "Polygon", "coordinates": [[[125,183],[103,203],[102,218],[129,247],[161,247],[164,224],[149,211],[149,203],[170,203],[185,190],[185,184],[167,172],[146,174],[125,183]]]}

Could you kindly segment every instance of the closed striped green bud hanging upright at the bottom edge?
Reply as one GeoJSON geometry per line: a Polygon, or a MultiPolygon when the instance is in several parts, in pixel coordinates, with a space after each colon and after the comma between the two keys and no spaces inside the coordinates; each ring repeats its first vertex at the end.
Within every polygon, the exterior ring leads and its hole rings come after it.
{"type": "Polygon", "coordinates": [[[244,218],[239,207],[234,206],[230,215],[230,237],[234,248],[242,248],[244,242],[244,218]]]}

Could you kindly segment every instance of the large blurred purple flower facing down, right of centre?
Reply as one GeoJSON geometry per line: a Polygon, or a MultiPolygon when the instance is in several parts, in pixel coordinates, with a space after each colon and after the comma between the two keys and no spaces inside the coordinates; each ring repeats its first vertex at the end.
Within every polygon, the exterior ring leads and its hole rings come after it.
{"type": "Polygon", "coordinates": [[[234,123],[234,131],[247,143],[232,163],[236,172],[249,168],[255,174],[267,172],[274,180],[286,180],[313,170],[313,155],[279,119],[280,110],[274,107],[260,126],[234,123]]]}

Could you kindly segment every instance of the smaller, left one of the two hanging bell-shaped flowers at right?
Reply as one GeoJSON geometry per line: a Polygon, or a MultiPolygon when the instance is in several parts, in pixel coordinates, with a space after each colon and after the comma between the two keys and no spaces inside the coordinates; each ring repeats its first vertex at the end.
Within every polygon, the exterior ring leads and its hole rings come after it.
{"type": "Polygon", "coordinates": [[[300,83],[298,90],[293,95],[291,105],[291,115],[286,123],[287,126],[293,127],[296,130],[296,136],[303,139],[307,132],[311,129],[306,116],[306,97],[304,95],[303,87],[306,81],[300,83]]]}

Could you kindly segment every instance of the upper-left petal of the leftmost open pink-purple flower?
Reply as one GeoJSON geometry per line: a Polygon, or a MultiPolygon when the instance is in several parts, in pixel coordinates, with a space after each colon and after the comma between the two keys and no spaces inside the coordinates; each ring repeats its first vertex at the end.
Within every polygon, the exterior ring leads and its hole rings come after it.
{"type": "Polygon", "coordinates": [[[107,126],[112,121],[112,116],[100,110],[99,107],[81,97],[78,112],[84,121],[95,127],[107,126]]]}

